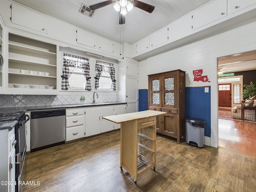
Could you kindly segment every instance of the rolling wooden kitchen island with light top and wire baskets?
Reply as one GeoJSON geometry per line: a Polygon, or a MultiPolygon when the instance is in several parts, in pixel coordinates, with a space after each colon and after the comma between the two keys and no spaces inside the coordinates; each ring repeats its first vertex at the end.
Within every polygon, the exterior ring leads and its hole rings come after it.
{"type": "Polygon", "coordinates": [[[121,124],[120,168],[134,177],[156,169],[156,116],[166,112],[146,110],[103,117],[121,124]]]}

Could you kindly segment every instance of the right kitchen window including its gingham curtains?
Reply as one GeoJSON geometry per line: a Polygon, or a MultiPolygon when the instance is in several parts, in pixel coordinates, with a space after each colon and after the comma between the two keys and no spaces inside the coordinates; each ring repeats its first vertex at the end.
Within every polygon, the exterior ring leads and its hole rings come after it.
{"type": "Polygon", "coordinates": [[[96,90],[116,90],[114,64],[96,60],[96,90]]]}

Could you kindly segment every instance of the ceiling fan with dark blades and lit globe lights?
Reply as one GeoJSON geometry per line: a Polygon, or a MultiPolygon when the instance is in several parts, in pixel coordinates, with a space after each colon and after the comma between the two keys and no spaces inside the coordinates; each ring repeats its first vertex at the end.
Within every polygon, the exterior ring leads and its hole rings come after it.
{"type": "Polygon", "coordinates": [[[138,0],[108,0],[91,5],[90,9],[96,10],[98,8],[110,5],[112,3],[114,3],[114,9],[119,12],[119,24],[125,23],[124,15],[127,13],[127,11],[132,10],[133,7],[137,7],[148,13],[152,13],[155,8],[152,5],[146,4],[138,0]]]}

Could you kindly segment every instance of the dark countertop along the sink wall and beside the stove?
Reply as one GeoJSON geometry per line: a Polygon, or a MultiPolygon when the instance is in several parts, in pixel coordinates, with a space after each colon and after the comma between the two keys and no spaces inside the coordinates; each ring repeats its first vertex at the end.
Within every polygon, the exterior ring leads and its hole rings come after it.
{"type": "MultiPolygon", "coordinates": [[[[69,104],[69,105],[48,105],[48,106],[27,106],[27,107],[4,107],[0,108],[0,113],[8,112],[26,112],[34,110],[53,110],[53,109],[66,109],[74,107],[92,107],[92,106],[103,106],[103,105],[118,105],[118,104],[127,104],[125,102],[101,102],[101,103],[82,103],[82,104],[69,104]]],[[[8,129],[12,130],[16,124],[17,120],[11,121],[0,121],[0,130],[8,129]]]]}

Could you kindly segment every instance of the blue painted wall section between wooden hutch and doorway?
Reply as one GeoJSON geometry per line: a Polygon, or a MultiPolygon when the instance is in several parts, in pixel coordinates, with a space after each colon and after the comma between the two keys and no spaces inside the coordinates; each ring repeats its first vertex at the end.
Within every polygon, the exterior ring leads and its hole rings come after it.
{"type": "Polygon", "coordinates": [[[186,88],[186,118],[199,118],[206,120],[204,135],[211,135],[211,98],[204,87],[186,88]]]}

